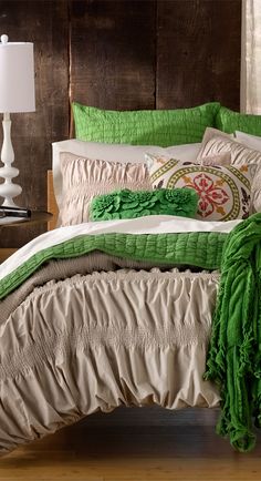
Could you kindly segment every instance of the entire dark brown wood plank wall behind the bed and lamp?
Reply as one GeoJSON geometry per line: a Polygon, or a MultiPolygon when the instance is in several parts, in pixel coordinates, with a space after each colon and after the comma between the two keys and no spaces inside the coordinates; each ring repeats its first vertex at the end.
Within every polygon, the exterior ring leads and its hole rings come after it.
{"type": "MultiPolygon", "coordinates": [[[[36,112],[12,115],[20,205],[46,208],[51,142],[73,136],[72,100],[239,109],[241,0],[4,0],[0,19],[10,41],[35,49],[36,112]]],[[[7,228],[0,247],[40,232],[7,228]]]]}

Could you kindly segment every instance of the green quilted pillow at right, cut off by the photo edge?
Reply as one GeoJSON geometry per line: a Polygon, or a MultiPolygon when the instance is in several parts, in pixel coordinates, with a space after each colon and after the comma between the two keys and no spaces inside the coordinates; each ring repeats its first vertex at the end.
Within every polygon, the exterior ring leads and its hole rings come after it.
{"type": "Polygon", "coordinates": [[[216,117],[216,126],[228,134],[236,131],[261,135],[261,115],[233,112],[221,106],[216,117]]]}

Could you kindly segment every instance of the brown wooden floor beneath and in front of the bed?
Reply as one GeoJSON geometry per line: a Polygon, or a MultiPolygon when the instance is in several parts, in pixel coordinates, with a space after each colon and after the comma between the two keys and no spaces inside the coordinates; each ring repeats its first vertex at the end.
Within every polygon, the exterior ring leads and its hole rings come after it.
{"type": "Polygon", "coordinates": [[[0,461],[1,481],[260,481],[260,436],[254,451],[240,454],[215,434],[211,410],[206,422],[200,409],[187,409],[171,412],[176,424],[150,427],[135,411],[147,408],[122,410],[125,426],[113,424],[114,413],[93,415],[113,422],[92,426],[90,417],[13,451],[0,461]]]}

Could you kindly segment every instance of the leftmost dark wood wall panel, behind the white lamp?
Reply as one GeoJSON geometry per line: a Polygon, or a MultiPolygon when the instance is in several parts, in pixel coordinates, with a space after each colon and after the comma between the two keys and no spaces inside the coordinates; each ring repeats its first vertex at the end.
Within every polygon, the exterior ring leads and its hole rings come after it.
{"type": "MultiPolygon", "coordinates": [[[[69,136],[67,2],[1,1],[0,18],[1,32],[10,41],[34,43],[36,111],[12,115],[14,165],[20,170],[17,182],[23,187],[15,202],[45,209],[51,142],[69,136]]],[[[22,245],[43,228],[7,228],[0,246],[22,245]]]]}

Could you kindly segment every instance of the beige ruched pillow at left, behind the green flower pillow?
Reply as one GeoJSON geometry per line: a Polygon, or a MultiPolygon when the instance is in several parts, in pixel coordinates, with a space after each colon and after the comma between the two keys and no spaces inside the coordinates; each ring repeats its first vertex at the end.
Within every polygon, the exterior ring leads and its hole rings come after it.
{"type": "Polygon", "coordinates": [[[59,226],[87,222],[90,203],[96,195],[122,188],[152,190],[145,164],[91,160],[63,152],[60,154],[60,165],[63,193],[59,226]]]}

